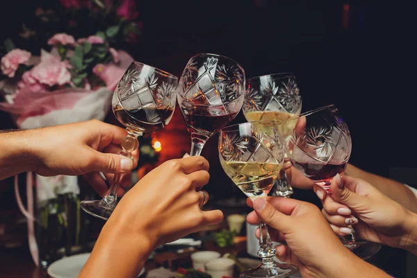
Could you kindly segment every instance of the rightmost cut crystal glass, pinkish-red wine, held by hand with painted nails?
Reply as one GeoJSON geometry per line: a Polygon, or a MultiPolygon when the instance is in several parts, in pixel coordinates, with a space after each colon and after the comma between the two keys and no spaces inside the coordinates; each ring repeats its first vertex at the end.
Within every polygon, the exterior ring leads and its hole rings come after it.
{"type": "MultiPolygon", "coordinates": [[[[332,179],[336,174],[343,176],[352,151],[349,129],[336,106],[331,104],[302,113],[280,126],[291,164],[332,196],[332,179]]],[[[357,238],[353,229],[342,241],[362,259],[373,256],[381,247],[379,243],[357,238]]]]}

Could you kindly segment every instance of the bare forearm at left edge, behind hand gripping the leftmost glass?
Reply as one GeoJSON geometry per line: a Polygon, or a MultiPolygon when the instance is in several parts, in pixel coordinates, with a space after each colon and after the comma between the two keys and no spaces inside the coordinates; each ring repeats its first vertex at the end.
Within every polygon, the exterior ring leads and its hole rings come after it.
{"type": "Polygon", "coordinates": [[[35,170],[36,158],[31,153],[31,132],[0,133],[0,180],[35,170]]]}

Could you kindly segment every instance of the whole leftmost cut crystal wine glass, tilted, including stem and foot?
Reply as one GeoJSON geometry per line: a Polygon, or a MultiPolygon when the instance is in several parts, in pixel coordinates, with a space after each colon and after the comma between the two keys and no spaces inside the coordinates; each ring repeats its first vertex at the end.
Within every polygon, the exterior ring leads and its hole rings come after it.
{"type": "MultiPolygon", "coordinates": [[[[120,79],[112,99],[115,117],[126,127],[120,155],[132,158],[138,149],[138,136],[163,129],[174,115],[178,78],[168,72],[133,62],[120,79]]],[[[115,174],[101,200],[82,201],[81,208],[91,215],[108,220],[117,204],[117,189],[123,174],[115,174]]]]}

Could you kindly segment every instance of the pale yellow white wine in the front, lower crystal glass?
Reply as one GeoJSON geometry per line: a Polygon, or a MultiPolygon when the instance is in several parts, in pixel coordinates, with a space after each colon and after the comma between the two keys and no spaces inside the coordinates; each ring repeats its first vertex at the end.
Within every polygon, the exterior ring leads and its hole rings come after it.
{"type": "Polygon", "coordinates": [[[281,163],[224,161],[222,158],[220,163],[224,172],[247,197],[268,195],[282,166],[281,163]]]}

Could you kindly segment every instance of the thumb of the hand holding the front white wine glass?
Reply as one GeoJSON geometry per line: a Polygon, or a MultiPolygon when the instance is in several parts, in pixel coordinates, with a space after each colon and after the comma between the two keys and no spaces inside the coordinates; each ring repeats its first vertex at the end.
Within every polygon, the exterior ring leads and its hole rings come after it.
{"type": "Polygon", "coordinates": [[[291,218],[288,215],[277,211],[264,197],[254,199],[253,203],[256,214],[263,222],[284,234],[288,233],[288,227],[291,226],[291,218]]]}

